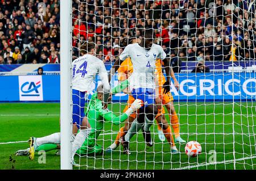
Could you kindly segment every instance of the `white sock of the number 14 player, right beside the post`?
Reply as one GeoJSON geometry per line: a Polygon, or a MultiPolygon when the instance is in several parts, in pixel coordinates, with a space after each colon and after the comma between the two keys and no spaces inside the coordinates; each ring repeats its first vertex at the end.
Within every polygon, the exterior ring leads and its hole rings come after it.
{"type": "Polygon", "coordinates": [[[74,158],[74,155],[76,154],[76,151],[82,146],[82,144],[85,141],[85,138],[88,137],[90,134],[90,130],[92,128],[88,129],[80,129],[80,132],[76,134],[75,140],[72,144],[72,159],[74,158]]]}

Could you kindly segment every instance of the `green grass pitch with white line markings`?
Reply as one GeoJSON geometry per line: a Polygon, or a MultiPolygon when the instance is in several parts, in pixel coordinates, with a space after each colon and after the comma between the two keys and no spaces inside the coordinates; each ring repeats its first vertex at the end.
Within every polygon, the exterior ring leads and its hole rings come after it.
{"type": "MultiPolygon", "coordinates": [[[[124,106],[114,103],[109,108],[118,113],[124,106]]],[[[176,144],[181,153],[172,155],[168,142],[159,141],[154,125],[151,128],[154,146],[150,149],[146,149],[139,133],[131,140],[131,155],[123,154],[119,146],[112,154],[76,156],[75,159],[80,159],[83,165],[80,169],[234,169],[234,166],[255,169],[255,106],[255,102],[239,101],[234,105],[231,102],[175,102],[182,138],[198,141],[202,146],[203,153],[196,158],[185,155],[185,144],[176,144]],[[209,163],[213,158],[211,151],[216,152],[217,164],[209,163]]],[[[59,113],[59,103],[1,103],[0,169],[60,169],[60,156],[55,155],[55,151],[47,152],[46,163],[38,163],[38,154],[34,161],[14,155],[16,150],[28,148],[27,142],[20,141],[59,132],[59,113]]],[[[119,128],[106,123],[98,144],[106,149],[119,128]]]]}

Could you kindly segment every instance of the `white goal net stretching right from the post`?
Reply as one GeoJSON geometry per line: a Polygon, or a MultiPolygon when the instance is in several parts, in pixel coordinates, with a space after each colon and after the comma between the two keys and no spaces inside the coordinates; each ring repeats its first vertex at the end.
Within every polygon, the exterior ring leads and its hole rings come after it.
{"type": "MultiPolygon", "coordinates": [[[[152,147],[139,130],[130,140],[131,154],[123,154],[117,135],[127,129],[126,121],[115,125],[103,118],[94,120],[90,124],[97,133],[75,155],[79,169],[255,169],[255,6],[254,0],[73,0],[72,60],[90,41],[110,71],[123,49],[141,42],[143,31],[152,27],[154,43],[167,54],[179,83],[177,89],[171,77],[172,96],[161,98],[164,113],[150,128],[152,147]],[[163,119],[165,124],[159,124],[163,119]],[[189,141],[201,145],[196,157],[185,153],[189,141]],[[106,151],[114,142],[117,148],[106,151]]],[[[160,68],[166,76],[164,66],[160,68]]],[[[112,87],[132,72],[130,66],[128,74],[120,69],[112,77],[112,87]]],[[[95,90],[98,80],[96,76],[95,90]]],[[[117,116],[127,105],[127,92],[113,95],[108,104],[117,116]]]]}

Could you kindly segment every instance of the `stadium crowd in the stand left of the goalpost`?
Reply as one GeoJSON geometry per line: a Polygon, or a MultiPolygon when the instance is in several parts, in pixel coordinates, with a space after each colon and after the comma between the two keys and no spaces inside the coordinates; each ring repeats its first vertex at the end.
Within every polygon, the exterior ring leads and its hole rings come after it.
{"type": "Polygon", "coordinates": [[[0,39],[0,64],[59,63],[59,0],[1,0],[0,39]],[[38,14],[39,2],[45,16],[38,14]]]}

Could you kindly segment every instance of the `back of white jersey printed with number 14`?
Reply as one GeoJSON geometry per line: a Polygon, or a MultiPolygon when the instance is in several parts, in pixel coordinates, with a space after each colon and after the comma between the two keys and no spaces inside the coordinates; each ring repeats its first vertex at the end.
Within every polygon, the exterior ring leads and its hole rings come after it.
{"type": "Polygon", "coordinates": [[[97,57],[85,54],[72,63],[72,89],[92,91],[94,78],[103,71],[107,74],[104,63],[97,57]]]}

